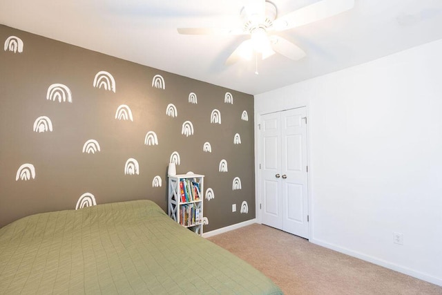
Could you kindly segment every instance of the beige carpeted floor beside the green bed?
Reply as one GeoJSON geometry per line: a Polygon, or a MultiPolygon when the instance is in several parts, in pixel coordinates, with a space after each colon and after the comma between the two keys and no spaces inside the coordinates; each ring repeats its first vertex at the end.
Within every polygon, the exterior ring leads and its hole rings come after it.
{"type": "Polygon", "coordinates": [[[437,285],[265,225],[207,239],[259,269],[285,294],[442,294],[437,285]]]}

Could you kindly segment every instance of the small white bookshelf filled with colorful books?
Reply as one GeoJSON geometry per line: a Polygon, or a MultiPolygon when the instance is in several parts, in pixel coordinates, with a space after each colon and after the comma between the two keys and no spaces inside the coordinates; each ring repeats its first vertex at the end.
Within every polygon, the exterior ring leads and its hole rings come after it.
{"type": "Polygon", "coordinates": [[[180,225],[200,236],[202,236],[203,199],[204,175],[193,173],[169,175],[167,213],[180,225]],[[187,193],[183,191],[186,187],[187,193]]]}

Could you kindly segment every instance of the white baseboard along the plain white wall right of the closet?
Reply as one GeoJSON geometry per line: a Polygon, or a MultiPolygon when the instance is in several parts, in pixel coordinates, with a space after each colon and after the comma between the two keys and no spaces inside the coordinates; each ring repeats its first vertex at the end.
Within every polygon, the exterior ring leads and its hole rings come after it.
{"type": "Polygon", "coordinates": [[[382,260],[382,259],[378,259],[378,258],[368,256],[368,255],[365,255],[365,254],[362,254],[362,253],[359,253],[356,251],[345,249],[343,247],[329,244],[328,242],[323,242],[322,240],[316,240],[313,238],[313,239],[310,239],[309,241],[316,244],[316,245],[320,245],[322,247],[332,249],[334,251],[338,251],[340,253],[347,254],[349,256],[353,256],[353,257],[368,261],[369,263],[374,263],[375,265],[381,265],[382,267],[392,269],[396,272],[401,272],[402,274],[407,274],[408,276],[413,276],[414,278],[419,278],[420,280],[425,280],[425,281],[432,283],[434,285],[442,286],[442,279],[441,278],[435,278],[434,276],[429,276],[429,275],[423,274],[421,272],[416,272],[413,269],[409,269],[407,267],[401,267],[399,265],[395,265],[394,263],[390,263],[390,262],[382,260]]]}

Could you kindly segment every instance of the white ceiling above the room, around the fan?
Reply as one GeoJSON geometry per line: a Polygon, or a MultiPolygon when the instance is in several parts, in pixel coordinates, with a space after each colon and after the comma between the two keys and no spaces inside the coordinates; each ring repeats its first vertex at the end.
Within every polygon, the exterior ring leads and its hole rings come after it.
{"type": "MultiPolygon", "coordinates": [[[[285,15],[317,0],[272,0],[285,15]]],[[[238,0],[1,0],[0,23],[138,64],[256,95],[442,39],[442,0],[355,0],[352,10],[278,33],[305,50],[292,61],[224,61],[244,36],[176,28],[240,24],[238,0]]]]}

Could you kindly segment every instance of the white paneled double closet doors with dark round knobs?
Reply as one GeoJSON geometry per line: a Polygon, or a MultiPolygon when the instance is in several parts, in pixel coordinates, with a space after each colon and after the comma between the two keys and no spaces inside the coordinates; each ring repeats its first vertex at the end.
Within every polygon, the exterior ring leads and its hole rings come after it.
{"type": "Polygon", "coordinates": [[[306,108],[261,116],[261,222],[309,238],[306,108]]]}

